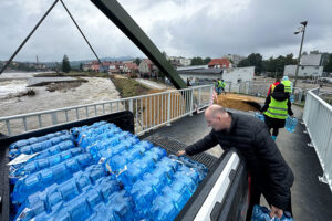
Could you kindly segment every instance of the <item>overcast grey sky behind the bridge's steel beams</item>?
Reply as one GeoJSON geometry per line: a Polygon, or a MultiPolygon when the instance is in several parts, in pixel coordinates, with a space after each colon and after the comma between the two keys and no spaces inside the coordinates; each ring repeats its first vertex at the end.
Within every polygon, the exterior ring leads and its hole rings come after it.
{"type": "MultiPolygon", "coordinates": [[[[63,0],[100,57],[145,56],[90,0],[63,0]]],[[[0,0],[0,60],[8,60],[54,0],[0,0]]],[[[221,57],[298,56],[303,51],[332,52],[331,0],[118,0],[167,55],[221,57]]],[[[15,61],[94,59],[59,2],[15,61]]]]}

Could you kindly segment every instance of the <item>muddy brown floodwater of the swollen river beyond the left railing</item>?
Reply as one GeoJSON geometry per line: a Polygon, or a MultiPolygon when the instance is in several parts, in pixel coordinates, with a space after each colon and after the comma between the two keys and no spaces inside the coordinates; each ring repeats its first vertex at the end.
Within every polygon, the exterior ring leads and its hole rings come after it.
{"type": "MultiPolygon", "coordinates": [[[[27,80],[22,80],[22,75],[15,74],[13,80],[0,81],[0,117],[86,105],[120,98],[118,92],[112,81],[110,78],[101,77],[82,77],[87,82],[82,83],[77,87],[63,88],[54,92],[49,92],[46,86],[32,86],[28,88],[35,92],[34,96],[18,96],[19,93],[27,90],[28,78],[33,75],[29,73],[25,76],[27,80]]],[[[95,110],[91,108],[89,109],[89,113],[95,110]]],[[[69,112],[68,114],[70,120],[75,120],[76,113],[69,112]]],[[[86,115],[83,109],[81,109],[79,114],[80,116],[86,115]]],[[[38,127],[38,118],[27,118],[27,120],[29,120],[30,125],[32,120],[32,125],[34,125],[33,127],[38,127]]],[[[51,125],[52,119],[50,116],[45,116],[42,120],[43,126],[46,126],[51,125]]],[[[59,116],[59,122],[64,122],[64,117],[59,116]]],[[[17,133],[22,131],[21,122],[14,123],[13,120],[10,126],[13,130],[17,130],[17,133]]],[[[6,124],[0,123],[0,133],[7,134],[6,130],[6,124]]]]}

